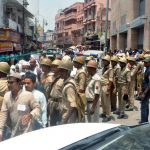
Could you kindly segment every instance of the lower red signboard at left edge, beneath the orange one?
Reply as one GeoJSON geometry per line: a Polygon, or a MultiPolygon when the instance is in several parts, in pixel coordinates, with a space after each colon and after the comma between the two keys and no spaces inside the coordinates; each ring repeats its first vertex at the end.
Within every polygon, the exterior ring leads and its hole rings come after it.
{"type": "Polygon", "coordinates": [[[6,51],[13,51],[13,44],[11,42],[0,42],[0,53],[6,51]]]}

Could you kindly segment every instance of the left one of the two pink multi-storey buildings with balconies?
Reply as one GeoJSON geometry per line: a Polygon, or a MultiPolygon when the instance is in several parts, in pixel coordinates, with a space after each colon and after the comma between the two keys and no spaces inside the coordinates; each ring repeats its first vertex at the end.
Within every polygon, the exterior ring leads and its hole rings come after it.
{"type": "Polygon", "coordinates": [[[55,17],[56,45],[66,48],[79,45],[83,38],[83,3],[77,2],[60,12],[55,17]]]}

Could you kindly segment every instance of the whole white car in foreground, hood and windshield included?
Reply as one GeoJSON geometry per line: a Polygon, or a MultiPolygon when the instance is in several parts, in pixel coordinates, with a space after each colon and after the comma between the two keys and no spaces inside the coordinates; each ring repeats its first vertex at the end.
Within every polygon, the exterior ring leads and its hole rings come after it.
{"type": "Polygon", "coordinates": [[[0,143],[1,150],[149,150],[150,124],[80,123],[49,127],[0,143]]]}

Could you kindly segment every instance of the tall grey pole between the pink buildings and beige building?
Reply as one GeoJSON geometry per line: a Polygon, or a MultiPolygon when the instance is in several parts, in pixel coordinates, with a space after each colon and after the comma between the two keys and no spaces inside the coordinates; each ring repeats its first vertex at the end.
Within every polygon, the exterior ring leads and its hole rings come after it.
{"type": "Polygon", "coordinates": [[[109,15],[109,0],[106,3],[106,28],[105,28],[105,48],[108,52],[107,32],[108,32],[108,15],[109,15]]]}

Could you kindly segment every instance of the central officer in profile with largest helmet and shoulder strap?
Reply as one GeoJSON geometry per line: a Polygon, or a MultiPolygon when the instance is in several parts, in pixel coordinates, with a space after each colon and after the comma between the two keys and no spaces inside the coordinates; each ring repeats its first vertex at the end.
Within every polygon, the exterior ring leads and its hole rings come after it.
{"type": "Polygon", "coordinates": [[[63,98],[61,105],[61,124],[79,122],[76,83],[75,80],[70,77],[70,72],[73,68],[73,64],[71,61],[62,61],[59,68],[60,76],[62,79],[64,79],[64,86],[62,90],[63,98]]]}

